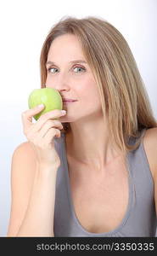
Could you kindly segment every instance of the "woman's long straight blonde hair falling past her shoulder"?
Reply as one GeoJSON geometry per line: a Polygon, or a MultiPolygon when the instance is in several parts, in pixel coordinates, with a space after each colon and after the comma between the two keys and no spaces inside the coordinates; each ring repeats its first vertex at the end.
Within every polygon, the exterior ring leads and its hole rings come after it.
{"type": "MultiPolygon", "coordinates": [[[[115,26],[97,17],[77,19],[66,17],[55,24],[42,45],[40,56],[41,87],[47,79],[46,61],[53,40],[66,33],[74,34],[93,72],[104,116],[109,119],[111,140],[120,150],[136,149],[141,131],[157,127],[154,114],[126,39],[115,26]],[[139,137],[130,145],[128,138],[139,137]]],[[[64,132],[70,124],[64,123],[64,132]]]]}

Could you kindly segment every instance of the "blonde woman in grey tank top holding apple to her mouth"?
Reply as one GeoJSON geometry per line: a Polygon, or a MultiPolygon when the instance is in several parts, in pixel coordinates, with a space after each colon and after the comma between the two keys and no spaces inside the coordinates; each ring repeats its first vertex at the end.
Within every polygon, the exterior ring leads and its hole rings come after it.
{"type": "Polygon", "coordinates": [[[155,236],[157,123],[125,38],[102,19],[60,20],[41,81],[73,102],[34,124],[43,106],[22,113],[8,236],[155,236]]]}

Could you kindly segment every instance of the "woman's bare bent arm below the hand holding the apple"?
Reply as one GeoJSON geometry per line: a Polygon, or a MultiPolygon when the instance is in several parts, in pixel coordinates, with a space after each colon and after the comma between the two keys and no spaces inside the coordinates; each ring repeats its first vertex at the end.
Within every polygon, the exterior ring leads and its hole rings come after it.
{"type": "Polygon", "coordinates": [[[7,236],[54,236],[57,169],[55,165],[37,166],[30,143],[22,143],[14,150],[11,166],[12,204],[7,236]]]}

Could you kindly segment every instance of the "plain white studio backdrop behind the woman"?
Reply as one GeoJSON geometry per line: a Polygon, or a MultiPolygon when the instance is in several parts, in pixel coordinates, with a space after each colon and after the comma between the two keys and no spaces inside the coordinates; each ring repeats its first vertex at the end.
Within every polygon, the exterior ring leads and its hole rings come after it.
{"type": "Polygon", "coordinates": [[[11,157],[26,141],[21,113],[31,90],[40,88],[39,56],[51,26],[63,16],[102,17],[126,38],[157,117],[156,0],[27,0],[0,3],[0,236],[10,211],[11,157]]]}

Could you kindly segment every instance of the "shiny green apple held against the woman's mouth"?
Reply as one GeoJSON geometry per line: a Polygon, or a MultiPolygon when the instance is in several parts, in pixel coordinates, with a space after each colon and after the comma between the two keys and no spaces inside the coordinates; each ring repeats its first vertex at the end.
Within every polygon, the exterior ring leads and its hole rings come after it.
{"type": "Polygon", "coordinates": [[[41,88],[31,91],[28,98],[29,108],[35,108],[37,105],[44,104],[45,108],[40,113],[34,116],[34,119],[39,119],[43,113],[47,113],[53,109],[61,110],[63,108],[62,97],[58,90],[53,88],[41,88]]]}

